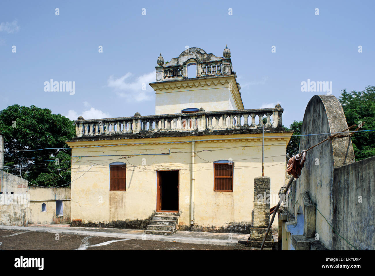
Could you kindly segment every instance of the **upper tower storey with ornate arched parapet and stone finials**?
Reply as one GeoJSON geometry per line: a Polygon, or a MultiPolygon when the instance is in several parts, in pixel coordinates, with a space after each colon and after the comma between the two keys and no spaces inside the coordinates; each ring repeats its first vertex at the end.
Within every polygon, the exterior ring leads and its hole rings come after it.
{"type": "Polygon", "coordinates": [[[156,114],[201,107],[206,111],[243,110],[241,88],[230,57],[228,47],[223,57],[192,47],[167,63],[160,53],[155,67],[156,82],[150,83],[156,91],[156,114]],[[188,76],[190,65],[196,65],[193,78],[188,76]]]}

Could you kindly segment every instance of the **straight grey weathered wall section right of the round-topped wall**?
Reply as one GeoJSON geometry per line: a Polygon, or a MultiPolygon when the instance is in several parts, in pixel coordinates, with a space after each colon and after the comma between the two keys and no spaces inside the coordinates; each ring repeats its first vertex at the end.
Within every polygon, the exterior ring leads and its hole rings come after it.
{"type": "MultiPolygon", "coordinates": [[[[375,156],[335,169],[333,183],[333,228],[357,249],[374,250],[375,156]]],[[[332,237],[332,249],[353,249],[338,235],[332,237]]]]}

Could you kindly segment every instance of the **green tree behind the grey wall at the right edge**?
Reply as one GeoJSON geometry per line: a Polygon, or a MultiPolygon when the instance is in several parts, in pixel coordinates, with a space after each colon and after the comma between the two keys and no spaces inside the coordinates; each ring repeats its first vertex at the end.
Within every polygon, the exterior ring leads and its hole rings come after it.
{"type": "MultiPolygon", "coordinates": [[[[360,130],[375,129],[375,86],[368,86],[363,91],[342,90],[339,98],[348,126],[363,122],[360,130]]],[[[375,155],[375,132],[364,131],[351,137],[356,160],[375,155]]]]}

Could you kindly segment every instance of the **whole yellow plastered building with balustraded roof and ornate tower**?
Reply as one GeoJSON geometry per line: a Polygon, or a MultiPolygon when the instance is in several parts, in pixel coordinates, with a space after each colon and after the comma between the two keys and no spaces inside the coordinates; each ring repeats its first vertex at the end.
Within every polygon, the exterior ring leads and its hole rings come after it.
{"type": "Polygon", "coordinates": [[[247,233],[262,149],[272,206],[285,182],[283,109],[244,109],[227,47],[223,57],[189,48],[157,63],[156,115],[75,121],[73,225],[247,233]]]}

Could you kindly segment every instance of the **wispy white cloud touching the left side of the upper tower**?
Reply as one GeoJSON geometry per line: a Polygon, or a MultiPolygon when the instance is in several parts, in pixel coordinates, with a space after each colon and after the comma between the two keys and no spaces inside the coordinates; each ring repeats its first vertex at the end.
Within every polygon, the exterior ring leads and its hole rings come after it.
{"type": "Polygon", "coordinates": [[[116,94],[121,98],[127,98],[128,101],[150,100],[154,90],[148,85],[155,81],[155,72],[150,72],[134,80],[129,80],[133,74],[127,72],[120,78],[114,78],[113,75],[108,78],[108,87],[114,88],[116,94]]]}

